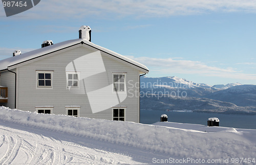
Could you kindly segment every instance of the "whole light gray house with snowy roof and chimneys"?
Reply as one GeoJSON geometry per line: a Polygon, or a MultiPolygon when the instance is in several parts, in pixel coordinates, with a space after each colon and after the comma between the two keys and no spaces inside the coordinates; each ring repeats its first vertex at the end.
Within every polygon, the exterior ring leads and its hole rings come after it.
{"type": "Polygon", "coordinates": [[[0,61],[0,105],[38,113],[140,122],[140,76],[148,68],[79,38],[0,61]]]}

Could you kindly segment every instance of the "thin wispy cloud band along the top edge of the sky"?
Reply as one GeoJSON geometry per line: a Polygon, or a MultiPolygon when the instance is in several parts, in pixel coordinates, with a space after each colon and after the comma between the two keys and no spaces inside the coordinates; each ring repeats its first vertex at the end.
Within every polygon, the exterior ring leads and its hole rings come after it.
{"type": "Polygon", "coordinates": [[[159,17],[170,15],[191,15],[209,12],[256,12],[254,0],[77,0],[41,1],[24,12],[34,18],[84,18],[96,17],[159,17]],[[33,15],[31,14],[33,13],[33,15]]]}

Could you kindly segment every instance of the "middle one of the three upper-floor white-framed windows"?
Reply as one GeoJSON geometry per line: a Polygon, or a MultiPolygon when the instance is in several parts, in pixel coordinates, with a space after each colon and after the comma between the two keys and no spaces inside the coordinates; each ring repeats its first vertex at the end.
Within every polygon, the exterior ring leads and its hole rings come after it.
{"type": "Polygon", "coordinates": [[[66,72],[66,75],[67,75],[67,88],[79,88],[80,73],[66,72]]]}

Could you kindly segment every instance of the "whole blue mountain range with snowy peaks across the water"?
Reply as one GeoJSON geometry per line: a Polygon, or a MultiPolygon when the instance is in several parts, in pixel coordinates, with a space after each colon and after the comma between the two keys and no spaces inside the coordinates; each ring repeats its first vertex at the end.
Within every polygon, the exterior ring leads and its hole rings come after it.
{"type": "Polygon", "coordinates": [[[141,77],[141,108],[256,114],[255,86],[210,86],[178,77],[141,77]]]}

